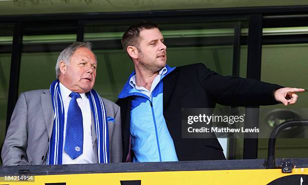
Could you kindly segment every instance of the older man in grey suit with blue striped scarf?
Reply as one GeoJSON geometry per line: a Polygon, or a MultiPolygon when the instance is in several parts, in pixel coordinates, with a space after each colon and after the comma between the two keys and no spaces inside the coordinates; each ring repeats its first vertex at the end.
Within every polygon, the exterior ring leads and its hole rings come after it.
{"type": "Polygon", "coordinates": [[[50,89],[22,93],[2,150],[3,165],[120,162],[120,109],[93,89],[91,43],[65,48],[50,89]]]}

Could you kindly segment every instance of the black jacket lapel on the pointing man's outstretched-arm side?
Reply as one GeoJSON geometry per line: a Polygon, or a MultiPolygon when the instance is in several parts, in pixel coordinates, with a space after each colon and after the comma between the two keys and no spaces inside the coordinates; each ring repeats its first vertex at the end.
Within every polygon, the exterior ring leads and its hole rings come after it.
{"type": "Polygon", "coordinates": [[[168,74],[164,79],[164,91],[163,91],[163,108],[165,110],[169,100],[170,100],[170,97],[173,93],[173,89],[174,89],[174,86],[176,84],[176,81],[178,79],[178,71],[177,69],[175,69],[174,71],[172,71],[170,74],[168,74]]]}

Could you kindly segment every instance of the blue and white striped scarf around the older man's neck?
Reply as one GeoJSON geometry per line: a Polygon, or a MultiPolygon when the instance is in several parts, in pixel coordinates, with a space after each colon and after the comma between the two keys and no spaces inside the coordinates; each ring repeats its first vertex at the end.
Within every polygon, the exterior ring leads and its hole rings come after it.
{"type": "MultiPolygon", "coordinates": [[[[55,80],[50,85],[51,101],[54,111],[53,129],[47,152],[46,164],[62,164],[63,131],[64,131],[64,106],[62,102],[59,80],[55,80]]],[[[97,153],[99,163],[109,162],[109,136],[106,110],[104,103],[98,93],[92,89],[87,93],[93,113],[97,153]]]]}

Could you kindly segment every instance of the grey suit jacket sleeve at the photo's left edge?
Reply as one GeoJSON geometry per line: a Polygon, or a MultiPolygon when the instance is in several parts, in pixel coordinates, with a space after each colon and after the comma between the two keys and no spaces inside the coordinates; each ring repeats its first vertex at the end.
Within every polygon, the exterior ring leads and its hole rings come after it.
{"type": "Polygon", "coordinates": [[[15,106],[2,149],[4,166],[29,165],[26,154],[28,138],[27,114],[26,97],[22,93],[15,106]]]}

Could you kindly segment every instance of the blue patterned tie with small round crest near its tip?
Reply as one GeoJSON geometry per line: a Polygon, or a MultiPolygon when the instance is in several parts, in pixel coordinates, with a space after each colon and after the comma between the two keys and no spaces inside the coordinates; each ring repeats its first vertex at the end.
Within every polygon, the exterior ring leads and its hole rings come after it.
{"type": "Polygon", "coordinates": [[[76,101],[81,98],[80,94],[72,92],[69,97],[71,100],[67,111],[64,151],[71,159],[75,159],[83,153],[83,114],[76,101]]]}

